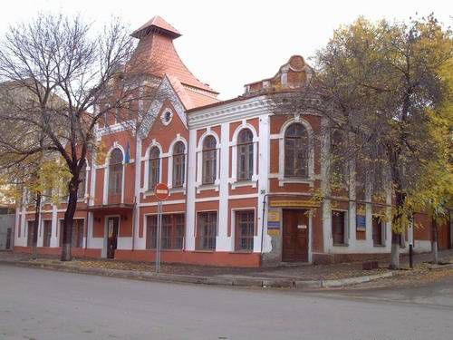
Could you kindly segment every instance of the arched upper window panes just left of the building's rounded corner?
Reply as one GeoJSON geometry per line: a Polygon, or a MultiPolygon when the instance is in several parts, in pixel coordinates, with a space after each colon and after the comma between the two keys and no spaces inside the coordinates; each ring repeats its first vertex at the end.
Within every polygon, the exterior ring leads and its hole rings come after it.
{"type": "Polygon", "coordinates": [[[254,135],[244,129],[237,136],[237,180],[252,180],[254,172],[254,135]]]}

